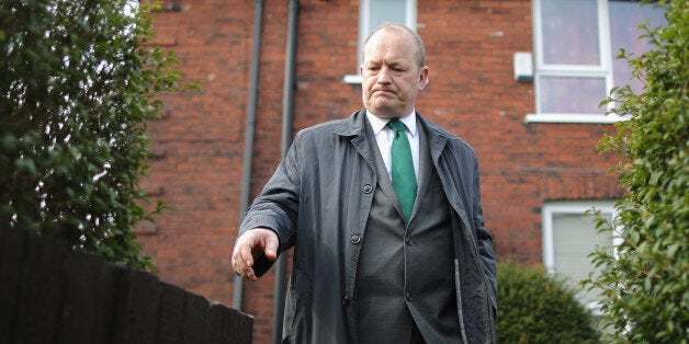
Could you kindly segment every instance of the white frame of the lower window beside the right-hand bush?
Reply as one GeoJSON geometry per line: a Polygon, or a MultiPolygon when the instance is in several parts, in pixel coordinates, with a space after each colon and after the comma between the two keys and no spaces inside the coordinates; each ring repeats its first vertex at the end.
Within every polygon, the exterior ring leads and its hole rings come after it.
{"type": "MultiPolygon", "coordinates": [[[[542,217],[542,234],[543,234],[543,266],[549,274],[555,274],[555,244],[554,244],[554,228],[553,216],[555,214],[569,214],[569,215],[584,215],[585,211],[597,209],[603,214],[609,214],[610,218],[614,220],[618,216],[614,208],[614,200],[572,200],[572,202],[553,202],[546,203],[541,208],[542,217]]],[[[615,228],[612,233],[612,245],[617,246],[621,243],[619,237],[620,228],[615,228]]],[[[594,252],[595,248],[591,248],[594,252]]],[[[613,250],[613,255],[617,257],[617,250],[613,250]]],[[[586,305],[586,307],[595,312],[599,311],[596,303],[586,305]]]]}

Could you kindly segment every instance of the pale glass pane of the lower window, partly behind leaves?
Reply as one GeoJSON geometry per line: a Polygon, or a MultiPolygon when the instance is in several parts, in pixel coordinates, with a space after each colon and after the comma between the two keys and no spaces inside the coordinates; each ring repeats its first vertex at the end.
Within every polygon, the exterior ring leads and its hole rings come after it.
{"type": "Polygon", "coordinates": [[[567,284],[578,290],[577,296],[584,303],[596,301],[595,291],[588,291],[579,285],[581,279],[588,278],[589,273],[597,271],[588,255],[596,245],[609,248],[611,244],[612,233],[599,233],[590,217],[580,214],[553,214],[555,273],[566,277],[567,284]]]}

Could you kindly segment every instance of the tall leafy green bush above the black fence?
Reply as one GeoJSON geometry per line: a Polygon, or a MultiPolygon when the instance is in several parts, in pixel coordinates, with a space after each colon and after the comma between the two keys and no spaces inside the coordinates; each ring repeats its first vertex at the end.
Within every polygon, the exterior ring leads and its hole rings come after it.
{"type": "Polygon", "coordinates": [[[146,121],[180,77],[171,55],[143,45],[150,12],[127,5],[0,1],[0,222],[153,268],[131,228],[150,215],[146,121]]]}

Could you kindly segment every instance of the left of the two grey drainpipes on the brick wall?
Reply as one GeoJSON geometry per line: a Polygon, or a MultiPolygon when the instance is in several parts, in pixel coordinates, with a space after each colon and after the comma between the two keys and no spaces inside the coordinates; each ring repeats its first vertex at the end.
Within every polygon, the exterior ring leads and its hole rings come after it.
{"type": "MultiPolygon", "coordinates": [[[[258,95],[259,54],[261,50],[261,19],[263,18],[263,1],[256,0],[253,10],[253,46],[251,48],[251,67],[249,71],[249,102],[247,103],[247,125],[244,133],[244,159],[241,170],[241,195],[239,199],[239,223],[249,207],[251,193],[251,159],[253,156],[253,136],[256,135],[256,102],[258,95]]],[[[241,310],[244,298],[244,279],[235,276],[233,291],[233,307],[241,310]]]]}

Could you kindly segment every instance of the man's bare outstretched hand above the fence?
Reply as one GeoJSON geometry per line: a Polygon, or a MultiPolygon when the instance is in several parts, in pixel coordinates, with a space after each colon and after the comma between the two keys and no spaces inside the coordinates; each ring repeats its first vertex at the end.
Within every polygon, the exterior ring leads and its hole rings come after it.
{"type": "Polygon", "coordinates": [[[256,280],[253,264],[260,256],[274,261],[278,259],[278,234],[272,230],[258,227],[237,238],[233,252],[233,267],[238,276],[256,280]]]}

